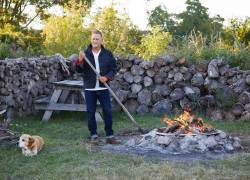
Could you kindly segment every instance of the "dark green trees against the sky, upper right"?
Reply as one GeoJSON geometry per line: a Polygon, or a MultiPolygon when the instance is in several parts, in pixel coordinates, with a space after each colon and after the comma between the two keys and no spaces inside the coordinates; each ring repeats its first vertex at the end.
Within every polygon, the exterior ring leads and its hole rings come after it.
{"type": "Polygon", "coordinates": [[[186,11],[179,14],[169,14],[165,7],[157,6],[150,12],[149,25],[158,25],[164,31],[175,36],[185,36],[191,31],[202,32],[206,35],[216,34],[222,30],[224,19],[219,15],[209,17],[208,8],[199,0],[187,0],[186,11]]]}

